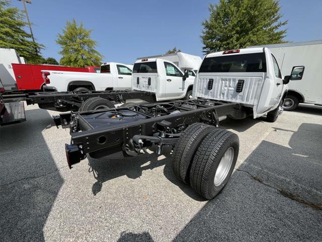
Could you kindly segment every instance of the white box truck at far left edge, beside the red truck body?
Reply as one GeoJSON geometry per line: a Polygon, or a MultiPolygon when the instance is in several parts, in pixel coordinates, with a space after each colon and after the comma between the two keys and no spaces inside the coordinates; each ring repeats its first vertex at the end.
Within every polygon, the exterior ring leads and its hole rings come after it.
{"type": "Polygon", "coordinates": [[[22,64],[22,58],[15,49],[0,48],[0,79],[7,92],[18,89],[11,64],[22,64]]]}

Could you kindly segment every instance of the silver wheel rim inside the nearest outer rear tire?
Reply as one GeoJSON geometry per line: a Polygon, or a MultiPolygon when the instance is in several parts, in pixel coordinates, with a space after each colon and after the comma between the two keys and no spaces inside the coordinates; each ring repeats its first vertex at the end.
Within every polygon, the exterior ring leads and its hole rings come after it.
{"type": "Polygon", "coordinates": [[[221,160],[216,170],[215,178],[213,180],[213,184],[215,185],[215,187],[218,187],[220,184],[222,184],[224,179],[227,177],[232,164],[233,155],[234,150],[232,147],[229,147],[221,157],[221,160]]]}

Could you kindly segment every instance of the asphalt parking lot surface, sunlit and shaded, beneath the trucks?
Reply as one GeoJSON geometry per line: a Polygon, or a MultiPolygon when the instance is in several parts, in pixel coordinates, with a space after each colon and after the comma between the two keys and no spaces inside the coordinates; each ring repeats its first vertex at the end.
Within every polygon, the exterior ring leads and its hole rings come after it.
{"type": "Polygon", "coordinates": [[[0,240],[320,241],[321,110],[225,120],[239,157],[225,189],[205,201],[175,177],[170,149],[69,170],[57,112],[26,106],[27,122],[0,128],[0,240]]]}

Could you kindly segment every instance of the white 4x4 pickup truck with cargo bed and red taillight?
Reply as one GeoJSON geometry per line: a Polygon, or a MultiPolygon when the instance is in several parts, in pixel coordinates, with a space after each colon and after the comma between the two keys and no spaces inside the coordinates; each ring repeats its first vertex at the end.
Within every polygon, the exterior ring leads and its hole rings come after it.
{"type": "Polygon", "coordinates": [[[44,91],[105,91],[132,88],[132,69],[121,63],[104,63],[101,73],[41,71],[45,82],[44,91]]]}

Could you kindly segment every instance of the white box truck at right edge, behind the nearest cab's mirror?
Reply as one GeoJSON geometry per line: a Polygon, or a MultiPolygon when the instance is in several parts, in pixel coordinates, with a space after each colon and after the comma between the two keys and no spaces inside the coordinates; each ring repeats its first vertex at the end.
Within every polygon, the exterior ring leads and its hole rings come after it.
{"type": "Polygon", "coordinates": [[[284,110],[294,110],[299,103],[322,105],[322,40],[252,47],[269,48],[282,74],[291,76],[284,110]]]}

